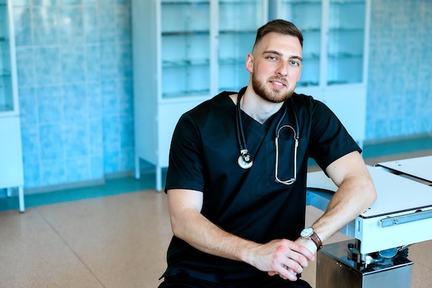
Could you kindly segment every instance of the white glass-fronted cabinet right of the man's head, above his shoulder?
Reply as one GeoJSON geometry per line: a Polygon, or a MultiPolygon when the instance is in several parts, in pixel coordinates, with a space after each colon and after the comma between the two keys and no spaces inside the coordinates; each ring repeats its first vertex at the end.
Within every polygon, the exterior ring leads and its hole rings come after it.
{"type": "Polygon", "coordinates": [[[286,19],[302,31],[303,68],[296,92],[335,112],[362,146],[370,0],[270,0],[270,19],[286,19]]]}

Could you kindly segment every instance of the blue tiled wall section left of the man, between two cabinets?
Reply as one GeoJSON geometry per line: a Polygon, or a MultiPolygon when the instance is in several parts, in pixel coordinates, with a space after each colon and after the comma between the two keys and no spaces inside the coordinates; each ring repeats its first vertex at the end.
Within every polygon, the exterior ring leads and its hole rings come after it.
{"type": "Polygon", "coordinates": [[[13,5],[26,187],[132,170],[130,1],[13,5]]]}

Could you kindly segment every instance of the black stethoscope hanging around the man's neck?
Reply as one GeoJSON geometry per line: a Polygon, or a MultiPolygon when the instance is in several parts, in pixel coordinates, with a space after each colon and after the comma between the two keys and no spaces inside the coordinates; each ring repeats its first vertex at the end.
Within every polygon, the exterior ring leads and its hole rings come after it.
{"type": "MultiPolygon", "coordinates": [[[[242,111],[240,110],[240,100],[242,99],[242,96],[246,92],[246,87],[242,88],[242,90],[239,91],[239,94],[237,96],[237,112],[236,112],[236,124],[237,124],[237,139],[240,146],[240,156],[237,159],[237,163],[239,163],[239,166],[243,169],[249,169],[253,165],[253,157],[249,153],[248,148],[246,147],[246,138],[244,137],[244,131],[243,131],[243,124],[242,124],[242,111]]],[[[282,116],[279,119],[279,122],[277,122],[276,129],[275,129],[275,149],[276,149],[276,160],[275,160],[275,181],[277,183],[285,184],[285,185],[291,185],[296,181],[297,178],[297,149],[299,146],[299,138],[300,138],[300,129],[299,129],[299,121],[297,117],[297,112],[295,111],[294,107],[294,101],[293,98],[290,97],[291,103],[293,106],[293,114],[295,119],[295,129],[291,125],[282,125],[282,120],[284,119],[286,112],[288,111],[288,103],[285,105],[285,110],[282,116]],[[289,178],[288,180],[281,180],[279,179],[278,174],[278,167],[279,167],[279,134],[280,131],[283,128],[290,128],[293,130],[294,133],[294,159],[293,159],[293,165],[294,165],[294,176],[289,178]]]]}

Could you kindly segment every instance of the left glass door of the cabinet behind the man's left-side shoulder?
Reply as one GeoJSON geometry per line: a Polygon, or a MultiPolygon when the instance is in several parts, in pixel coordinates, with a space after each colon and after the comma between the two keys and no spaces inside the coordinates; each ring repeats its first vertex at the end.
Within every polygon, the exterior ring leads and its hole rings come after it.
{"type": "Polygon", "coordinates": [[[210,1],[161,1],[161,58],[162,98],[210,92],[210,1]]]}

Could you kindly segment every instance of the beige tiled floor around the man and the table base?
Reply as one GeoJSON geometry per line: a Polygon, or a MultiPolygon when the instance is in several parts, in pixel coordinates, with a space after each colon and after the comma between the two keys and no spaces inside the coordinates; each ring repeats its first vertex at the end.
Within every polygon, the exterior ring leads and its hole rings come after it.
{"type": "MultiPolygon", "coordinates": [[[[0,287],[157,287],[170,237],[154,190],[0,212],[0,287]]],[[[412,288],[432,287],[431,257],[432,241],[410,248],[412,288]]],[[[315,263],[304,279],[315,287],[315,263]]]]}

